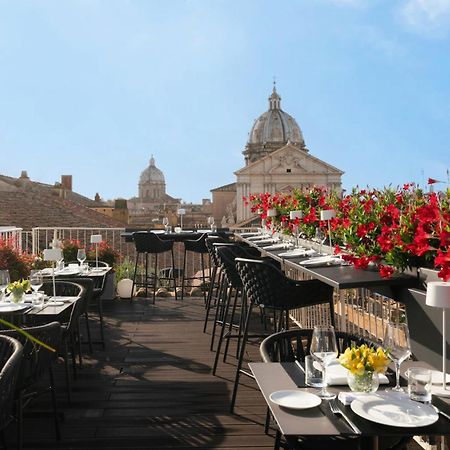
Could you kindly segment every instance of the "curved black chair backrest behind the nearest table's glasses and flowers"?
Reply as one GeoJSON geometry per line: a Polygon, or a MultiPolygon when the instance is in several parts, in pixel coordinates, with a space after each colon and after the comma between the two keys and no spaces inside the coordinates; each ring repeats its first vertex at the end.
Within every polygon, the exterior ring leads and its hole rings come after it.
{"type": "MultiPolygon", "coordinates": [[[[304,361],[309,355],[313,330],[296,328],[280,331],[268,336],[261,342],[259,352],[264,362],[294,362],[304,361]]],[[[377,347],[379,344],[370,338],[358,336],[344,331],[336,332],[339,353],[347,347],[367,344],[377,347]]]]}

